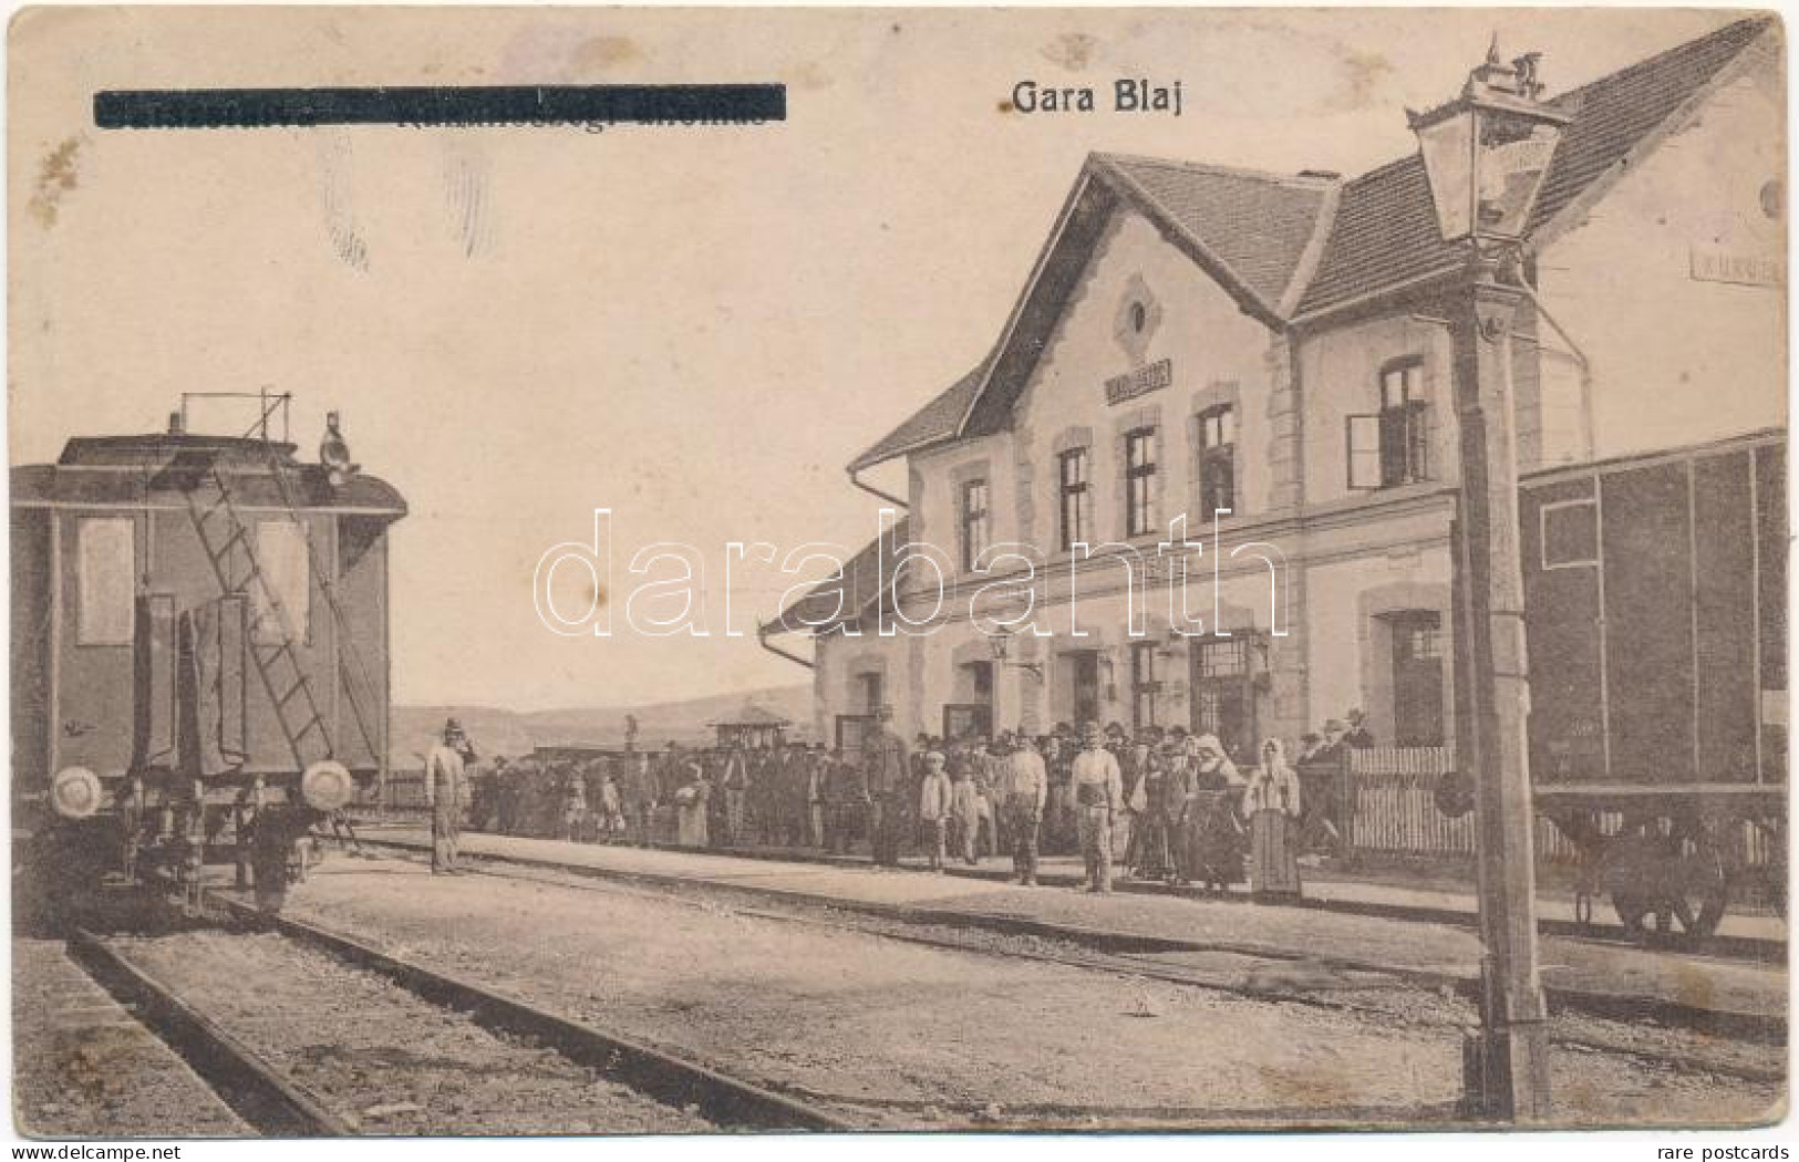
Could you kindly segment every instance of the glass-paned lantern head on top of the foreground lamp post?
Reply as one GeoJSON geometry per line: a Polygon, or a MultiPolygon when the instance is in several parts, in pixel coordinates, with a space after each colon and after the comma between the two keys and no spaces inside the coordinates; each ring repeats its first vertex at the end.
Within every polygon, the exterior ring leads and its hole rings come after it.
{"type": "Polygon", "coordinates": [[[1518,241],[1571,113],[1544,104],[1536,52],[1500,63],[1499,40],[1457,99],[1407,115],[1445,241],[1518,241]]]}

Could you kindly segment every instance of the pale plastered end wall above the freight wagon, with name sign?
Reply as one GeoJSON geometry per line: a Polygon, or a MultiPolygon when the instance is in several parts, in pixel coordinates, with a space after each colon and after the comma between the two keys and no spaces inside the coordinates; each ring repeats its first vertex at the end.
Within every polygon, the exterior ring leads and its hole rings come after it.
{"type": "Polygon", "coordinates": [[[1695,277],[1718,257],[1785,270],[1783,112],[1761,52],[1542,254],[1542,299],[1592,362],[1599,459],[1786,423],[1785,286],[1695,277]]]}

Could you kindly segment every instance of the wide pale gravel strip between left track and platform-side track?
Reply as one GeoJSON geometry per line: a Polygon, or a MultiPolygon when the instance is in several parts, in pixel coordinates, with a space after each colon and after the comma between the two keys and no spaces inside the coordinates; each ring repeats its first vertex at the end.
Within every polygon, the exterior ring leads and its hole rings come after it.
{"type": "MultiPolygon", "coordinates": [[[[1455,1015],[1243,998],[594,887],[342,860],[290,908],[876,1126],[1392,1124],[1457,1099],[1455,1015]]],[[[1569,1124],[1752,1122],[1783,1099],[1617,1054],[1558,1052],[1556,1074],[1569,1124]]]]}

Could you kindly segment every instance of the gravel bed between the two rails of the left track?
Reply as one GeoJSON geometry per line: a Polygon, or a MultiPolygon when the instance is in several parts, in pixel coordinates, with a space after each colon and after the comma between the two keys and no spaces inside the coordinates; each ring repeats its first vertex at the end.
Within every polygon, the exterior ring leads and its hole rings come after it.
{"type": "Polygon", "coordinates": [[[122,950],[367,1133],[712,1130],[698,1113],[281,935],[187,932],[130,939],[122,950]]]}

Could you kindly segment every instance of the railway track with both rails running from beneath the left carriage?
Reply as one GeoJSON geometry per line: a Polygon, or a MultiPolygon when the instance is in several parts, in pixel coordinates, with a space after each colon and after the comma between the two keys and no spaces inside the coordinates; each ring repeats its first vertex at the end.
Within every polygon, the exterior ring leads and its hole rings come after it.
{"type": "Polygon", "coordinates": [[[705,1065],[228,896],[248,934],[70,934],[74,959],[257,1133],[847,1130],[705,1065]]]}

